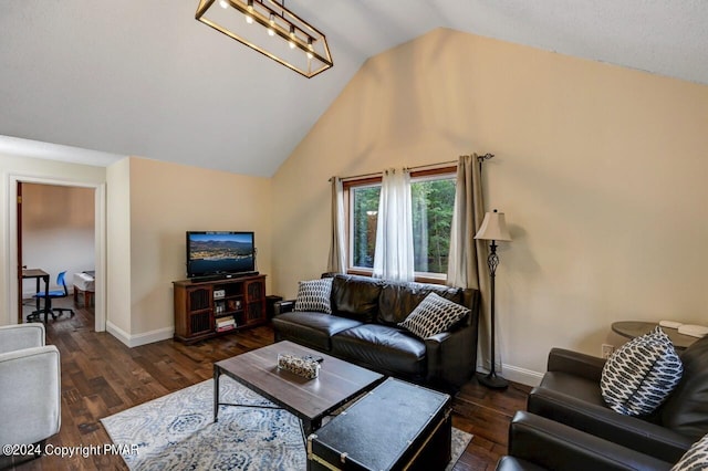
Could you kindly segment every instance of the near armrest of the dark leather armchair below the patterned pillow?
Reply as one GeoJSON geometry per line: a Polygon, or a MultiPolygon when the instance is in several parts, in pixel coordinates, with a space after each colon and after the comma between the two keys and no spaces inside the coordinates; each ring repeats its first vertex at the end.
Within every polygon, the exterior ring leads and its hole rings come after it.
{"type": "Polygon", "coordinates": [[[646,420],[543,387],[531,390],[527,409],[531,414],[671,463],[677,462],[694,441],[646,420]]]}

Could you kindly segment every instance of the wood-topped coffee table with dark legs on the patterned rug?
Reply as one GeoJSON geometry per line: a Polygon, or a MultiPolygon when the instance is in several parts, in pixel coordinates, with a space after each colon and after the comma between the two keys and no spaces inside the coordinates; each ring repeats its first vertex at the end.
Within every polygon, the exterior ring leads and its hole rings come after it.
{"type": "Polygon", "coordinates": [[[385,379],[384,375],[283,341],[214,364],[214,421],[219,418],[219,377],[227,375],[299,417],[304,436],[322,418],[385,379]],[[323,358],[319,377],[305,379],[278,368],[278,354],[323,358]]]}

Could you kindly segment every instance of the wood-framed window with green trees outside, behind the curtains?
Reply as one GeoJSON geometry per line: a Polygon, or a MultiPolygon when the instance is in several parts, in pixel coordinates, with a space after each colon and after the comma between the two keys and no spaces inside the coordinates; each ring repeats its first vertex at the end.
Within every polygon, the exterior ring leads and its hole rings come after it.
{"type": "MultiPolygon", "coordinates": [[[[447,275],[455,181],[455,167],[410,174],[416,279],[444,280],[447,275]]],[[[348,272],[371,274],[381,178],[350,180],[344,184],[344,190],[348,216],[348,272]]]]}

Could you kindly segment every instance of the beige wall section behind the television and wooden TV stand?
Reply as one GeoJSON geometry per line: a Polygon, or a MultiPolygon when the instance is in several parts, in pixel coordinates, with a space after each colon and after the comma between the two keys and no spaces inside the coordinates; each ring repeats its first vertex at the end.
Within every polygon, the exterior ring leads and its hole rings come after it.
{"type": "Polygon", "coordinates": [[[186,231],[254,231],[258,270],[271,273],[270,179],[132,157],[129,205],[129,249],[121,263],[129,263],[133,343],[171,337],[171,282],[186,278],[186,231]]]}

